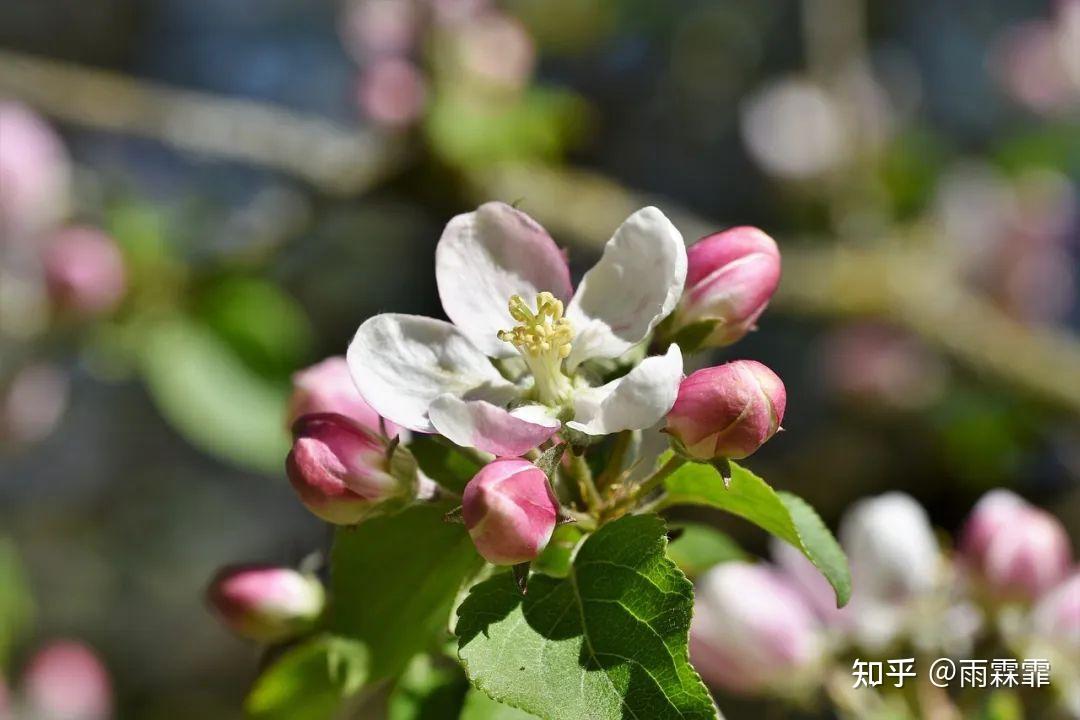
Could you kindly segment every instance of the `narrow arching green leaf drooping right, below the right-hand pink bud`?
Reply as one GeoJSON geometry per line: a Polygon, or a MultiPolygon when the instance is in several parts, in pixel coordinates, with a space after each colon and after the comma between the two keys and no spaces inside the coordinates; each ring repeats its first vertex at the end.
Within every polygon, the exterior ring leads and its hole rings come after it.
{"type": "MultiPolygon", "coordinates": [[[[662,464],[671,457],[666,452],[658,461],[662,464]]],[[[731,463],[731,487],[715,467],[687,463],[665,481],[667,495],[661,507],[672,505],[710,505],[727,511],[777,535],[802,552],[836,592],[837,607],[847,604],[851,597],[851,571],[848,558],[839,543],[828,531],[810,505],[789,492],[777,492],[768,483],[731,463]]]]}

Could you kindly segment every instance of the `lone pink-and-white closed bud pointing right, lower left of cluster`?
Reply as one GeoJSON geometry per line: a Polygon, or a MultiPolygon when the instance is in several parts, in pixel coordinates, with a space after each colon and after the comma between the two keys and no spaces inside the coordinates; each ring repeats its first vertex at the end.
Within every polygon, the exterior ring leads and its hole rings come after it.
{"type": "Polygon", "coordinates": [[[326,604],[318,579],[273,566],[220,570],[206,600],[229,629],[259,642],[280,642],[310,629],[326,604]]]}

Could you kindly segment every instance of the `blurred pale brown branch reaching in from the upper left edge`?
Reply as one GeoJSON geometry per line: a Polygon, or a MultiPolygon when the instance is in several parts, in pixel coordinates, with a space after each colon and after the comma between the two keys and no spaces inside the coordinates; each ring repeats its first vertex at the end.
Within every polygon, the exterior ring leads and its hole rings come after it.
{"type": "Polygon", "coordinates": [[[335,194],[364,191],[403,155],[396,138],[374,132],[9,51],[0,51],[0,95],[62,122],[255,163],[335,194]]]}

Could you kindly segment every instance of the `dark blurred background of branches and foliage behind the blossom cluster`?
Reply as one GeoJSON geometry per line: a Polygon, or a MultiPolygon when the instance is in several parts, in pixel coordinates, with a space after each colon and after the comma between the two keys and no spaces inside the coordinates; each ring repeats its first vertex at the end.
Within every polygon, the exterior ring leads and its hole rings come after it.
{"type": "Polygon", "coordinates": [[[1075,0],[0,0],[0,666],[79,638],[119,717],[238,717],[206,582],[329,538],[289,377],[440,316],[491,199],[578,273],[642,204],[761,227],[780,294],[702,358],[787,384],[754,470],[834,527],[1008,487],[1076,546],[1078,123],[1075,0]]]}

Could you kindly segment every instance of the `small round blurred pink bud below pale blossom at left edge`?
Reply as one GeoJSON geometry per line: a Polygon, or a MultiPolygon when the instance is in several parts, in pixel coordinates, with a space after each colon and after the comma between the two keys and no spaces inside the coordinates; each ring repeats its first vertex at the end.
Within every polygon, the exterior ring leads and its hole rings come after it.
{"type": "Polygon", "coordinates": [[[43,262],[49,294],[62,310],[99,315],[116,308],[124,296],[124,258],[100,230],[72,227],[59,231],[43,262]]]}

